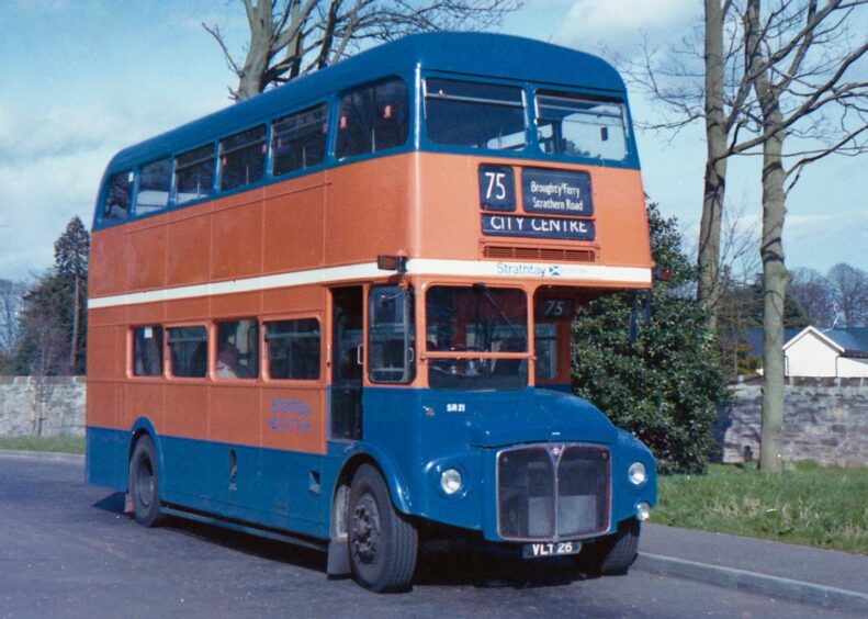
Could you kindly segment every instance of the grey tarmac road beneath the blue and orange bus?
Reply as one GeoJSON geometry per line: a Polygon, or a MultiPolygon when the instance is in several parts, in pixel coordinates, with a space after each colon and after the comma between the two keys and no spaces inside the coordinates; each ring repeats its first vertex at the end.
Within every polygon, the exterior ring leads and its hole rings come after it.
{"type": "Polygon", "coordinates": [[[145,529],[81,460],[0,453],[0,617],[846,617],[632,570],[586,579],[568,560],[422,551],[412,592],[328,579],[325,555],[172,520],[145,529]]]}

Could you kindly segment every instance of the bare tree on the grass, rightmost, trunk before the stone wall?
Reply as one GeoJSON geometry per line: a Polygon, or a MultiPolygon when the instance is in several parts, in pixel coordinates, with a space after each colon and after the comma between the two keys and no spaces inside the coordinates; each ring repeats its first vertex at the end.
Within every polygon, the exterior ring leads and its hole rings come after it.
{"type": "MultiPolygon", "coordinates": [[[[833,153],[868,149],[868,82],[847,81],[848,69],[868,52],[868,43],[848,45],[847,18],[860,1],[778,0],[770,11],[747,0],[744,20],[745,74],[757,105],[745,110],[745,125],[758,123],[758,135],[734,153],[763,148],[763,425],[760,468],[781,470],[784,426],[784,301],[789,280],[784,257],[787,193],[805,165],[833,153]],[[822,116],[836,113],[830,127],[822,116]],[[855,115],[855,122],[848,122],[855,115]],[[820,132],[834,132],[822,135],[820,132]],[[808,147],[785,151],[790,137],[812,137],[808,147]],[[787,160],[793,161],[789,169],[787,160]]],[[[864,41],[864,40],[863,40],[864,41]]]]}

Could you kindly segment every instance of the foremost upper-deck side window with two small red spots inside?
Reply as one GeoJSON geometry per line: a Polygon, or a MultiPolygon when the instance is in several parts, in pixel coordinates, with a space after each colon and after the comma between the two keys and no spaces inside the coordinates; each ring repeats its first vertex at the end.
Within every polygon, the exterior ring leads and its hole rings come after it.
{"type": "Polygon", "coordinates": [[[407,140],[407,87],[399,79],[343,93],[339,110],[338,159],[379,153],[407,140]]]}

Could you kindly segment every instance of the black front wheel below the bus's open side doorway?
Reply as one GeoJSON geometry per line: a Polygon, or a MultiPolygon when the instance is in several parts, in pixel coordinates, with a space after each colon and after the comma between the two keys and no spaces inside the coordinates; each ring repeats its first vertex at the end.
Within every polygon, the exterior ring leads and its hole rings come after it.
{"type": "Polygon", "coordinates": [[[416,527],[395,511],[383,476],[362,464],[349,504],[350,566],[356,581],[377,593],[406,589],[416,569],[416,527]]]}

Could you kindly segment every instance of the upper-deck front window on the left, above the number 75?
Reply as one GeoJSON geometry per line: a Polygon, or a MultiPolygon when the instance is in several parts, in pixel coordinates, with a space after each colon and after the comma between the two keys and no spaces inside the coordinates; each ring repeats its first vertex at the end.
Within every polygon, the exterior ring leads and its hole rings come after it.
{"type": "Polygon", "coordinates": [[[425,121],[435,144],[525,148],[525,95],[518,87],[428,78],[425,121]]]}

